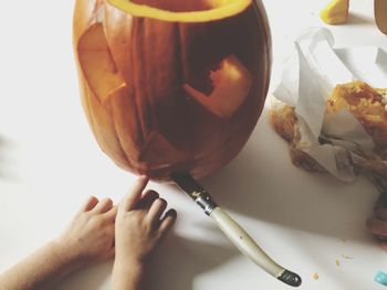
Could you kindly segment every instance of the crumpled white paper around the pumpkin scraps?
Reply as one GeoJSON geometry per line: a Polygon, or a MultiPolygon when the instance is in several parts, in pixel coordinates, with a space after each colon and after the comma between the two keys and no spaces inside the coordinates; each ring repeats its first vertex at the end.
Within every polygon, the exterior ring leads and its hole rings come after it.
{"type": "MultiPolygon", "coordinates": [[[[348,110],[324,118],[326,100],[338,84],[363,80],[373,87],[387,87],[387,53],[378,47],[333,45],[328,30],[304,31],[294,42],[294,53],[284,64],[282,82],[273,95],[295,107],[301,132],[297,149],[337,179],[351,182],[357,169],[367,168],[375,143],[348,110]]],[[[387,161],[378,162],[387,167],[387,161]]]]}

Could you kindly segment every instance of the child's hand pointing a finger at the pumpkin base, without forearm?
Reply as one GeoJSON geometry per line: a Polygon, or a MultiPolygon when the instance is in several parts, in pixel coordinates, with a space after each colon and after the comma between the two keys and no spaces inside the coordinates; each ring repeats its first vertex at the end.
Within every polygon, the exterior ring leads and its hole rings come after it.
{"type": "Polygon", "coordinates": [[[142,176],[119,203],[115,224],[116,262],[144,265],[176,221],[176,211],[164,216],[167,202],[155,191],[143,191],[148,179],[142,176]]]}

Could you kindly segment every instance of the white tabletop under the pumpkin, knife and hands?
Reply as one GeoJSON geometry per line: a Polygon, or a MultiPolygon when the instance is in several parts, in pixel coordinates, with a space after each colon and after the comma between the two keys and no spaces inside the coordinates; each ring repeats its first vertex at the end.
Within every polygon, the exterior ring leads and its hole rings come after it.
{"type": "MultiPolygon", "coordinates": [[[[318,12],[328,0],[263,2],[274,84],[290,40],[304,28],[324,26],[318,12]]],[[[54,238],[86,196],[118,202],[135,179],[102,153],[83,115],[71,44],[73,4],[1,2],[0,271],[54,238]]],[[[352,0],[349,23],[330,29],[337,46],[387,51],[372,0],[352,0]]],[[[387,253],[365,227],[376,189],[364,178],[344,184],[294,168],[266,109],[238,158],[202,182],[275,260],[302,276],[302,289],[385,289],[373,279],[387,271],[387,253]]],[[[150,187],[179,213],[156,257],[155,290],[290,289],[241,256],[184,193],[150,187]]],[[[108,289],[111,270],[111,261],[97,265],[57,289],[108,289]]]]}

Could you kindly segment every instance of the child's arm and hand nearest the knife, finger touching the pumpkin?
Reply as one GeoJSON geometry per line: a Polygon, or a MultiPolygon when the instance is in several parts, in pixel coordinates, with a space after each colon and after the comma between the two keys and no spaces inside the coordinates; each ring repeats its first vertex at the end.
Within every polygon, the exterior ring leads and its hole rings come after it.
{"type": "Polygon", "coordinates": [[[176,221],[175,210],[164,214],[167,202],[159,198],[157,192],[143,194],[147,182],[146,178],[140,178],[118,206],[114,290],[147,289],[149,259],[176,221]]]}

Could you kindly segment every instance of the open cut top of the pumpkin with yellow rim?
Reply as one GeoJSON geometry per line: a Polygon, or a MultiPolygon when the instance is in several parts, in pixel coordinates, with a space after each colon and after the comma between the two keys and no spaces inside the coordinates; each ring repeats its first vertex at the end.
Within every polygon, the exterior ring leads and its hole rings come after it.
{"type": "Polygon", "coordinates": [[[176,22],[207,22],[236,15],[252,0],[107,0],[135,17],[176,22]]]}

